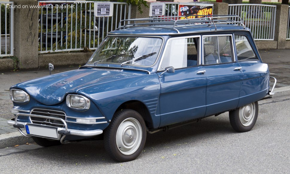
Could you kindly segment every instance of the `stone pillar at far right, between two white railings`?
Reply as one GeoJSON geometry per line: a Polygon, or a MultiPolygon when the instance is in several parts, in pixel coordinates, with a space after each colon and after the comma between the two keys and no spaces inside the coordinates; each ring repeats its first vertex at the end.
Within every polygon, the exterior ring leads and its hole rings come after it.
{"type": "Polygon", "coordinates": [[[274,40],[277,41],[277,49],[286,48],[288,10],[289,5],[277,4],[274,35],[274,40]]]}

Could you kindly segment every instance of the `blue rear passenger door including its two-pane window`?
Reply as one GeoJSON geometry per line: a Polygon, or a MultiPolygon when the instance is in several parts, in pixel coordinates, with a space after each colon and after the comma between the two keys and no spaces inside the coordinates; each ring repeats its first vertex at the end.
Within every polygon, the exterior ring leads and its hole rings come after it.
{"type": "Polygon", "coordinates": [[[203,64],[207,75],[206,114],[235,109],[243,73],[233,52],[232,34],[203,35],[203,64]]]}

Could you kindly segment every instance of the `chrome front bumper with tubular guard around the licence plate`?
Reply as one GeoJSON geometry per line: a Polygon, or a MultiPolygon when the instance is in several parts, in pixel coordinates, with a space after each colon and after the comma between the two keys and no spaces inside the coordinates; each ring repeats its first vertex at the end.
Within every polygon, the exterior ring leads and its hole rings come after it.
{"type": "MultiPolygon", "coordinates": [[[[64,124],[65,127],[64,128],[57,128],[57,133],[58,133],[57,139],[55,139],[55,138],[49,138],[49,139],[53,139],[53,140],[60,140],[61,143],[64,143],[63,140],[64,140],[64,138],[67,135],[77,135],[77,136],[81,136],[81,137],[92,137],[92,136],[96,136],[96,135],[99,135],[99,134],[102,134],[103,133],[103,130],[101,130],[101,129],[90,130],[90,131],[83,131],[83,130],[77,130],[77,129],[68,129],[68,126],[67,126],[66,122],[63,119],[61,119],[61,118],[55,118],[55,117],[50,117],[50,116],[34,115],[34,114],[21,114],[21,113],[16,114],[15,121],[9,120],[8,121],[8,125],[13,125],[13,127],[18,128],[19,132],[23,136],[28,137],[28,138],[31,138],[32,136],[29,135],[29,134],[23,133],[20,128],[24,128],[25,129],[25,125],[26,124],[31,124],[31,123],[17,121],[18,116],[28,116],[28,117],[29,116],[33,116],[33,117],[38,117],[38,118],[55,119],[55,120],[61,121],[64,124]]],[[[39,127],[42,126],[40,124],[34,124],[34,125],[37,125],[39,127]]],[[[33,135],[33,136],[35,136],[35,135],[33,135]]],[[[41,137],[41,136],[36,136],[36,137],[41,137]]],[[[48,138],[48,137],[45,137],[45,138],[48,138]]]]}

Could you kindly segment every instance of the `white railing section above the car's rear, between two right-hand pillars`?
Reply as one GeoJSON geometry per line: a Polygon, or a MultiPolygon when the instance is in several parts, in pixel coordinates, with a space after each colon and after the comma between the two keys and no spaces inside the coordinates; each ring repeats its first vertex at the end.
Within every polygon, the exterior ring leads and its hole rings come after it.
{"type": "Polygon", "coordinates": [[[229,15],[238,15],[250,28],[254,40],[274,40],[275,5],[262,4],[229,4],[229,15]]]}

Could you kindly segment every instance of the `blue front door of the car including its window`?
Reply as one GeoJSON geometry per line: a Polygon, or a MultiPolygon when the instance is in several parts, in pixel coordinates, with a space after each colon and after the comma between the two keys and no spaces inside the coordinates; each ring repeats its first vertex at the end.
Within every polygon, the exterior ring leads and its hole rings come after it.
{"type": "Polygon", "coordinates": [[[161,126],[203,117],[206,111],[207,77],[200,62],[200,36],[167,41],[158,67],[161,84],[161,126]],[[165,72],[173,66],[174,73],[165,72]]]}

